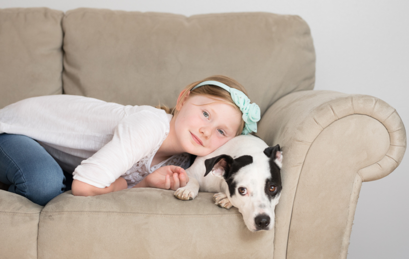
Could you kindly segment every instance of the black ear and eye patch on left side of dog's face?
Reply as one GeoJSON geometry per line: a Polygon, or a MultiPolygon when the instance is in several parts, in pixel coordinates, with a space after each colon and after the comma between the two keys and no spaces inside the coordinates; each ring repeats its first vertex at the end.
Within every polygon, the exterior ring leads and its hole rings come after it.
{"type": "Polygon", "coordinates": [[[244,166],[249,165],[253,162],[253,157],[251,155],[242,155],[235,159],[231,156],[223,154],[213,158],[205,160],[206,172],[205,176],[213,169],[214,165],[224,159],[226,163],[224,164],[224,174],[223,178],[227,183],[228,191],[230,192],[230,197],[235,194],[235,189],[237,183],[234,181],[234,175],[244,166]]]}

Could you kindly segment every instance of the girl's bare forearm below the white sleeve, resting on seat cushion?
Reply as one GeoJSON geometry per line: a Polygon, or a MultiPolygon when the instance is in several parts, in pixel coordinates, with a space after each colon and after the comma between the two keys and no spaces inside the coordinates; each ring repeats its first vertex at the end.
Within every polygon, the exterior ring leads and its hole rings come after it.
{"type": "Polygon", "coordinates": [[[81,182],[79,180],[72,181],[71,191],[75,196],[95,196],[110,192],[116,192],[128,188],[128,183],[122,177],[119,177],[110,186],[105,188],[98,188],[88,183],[81,182]]]}

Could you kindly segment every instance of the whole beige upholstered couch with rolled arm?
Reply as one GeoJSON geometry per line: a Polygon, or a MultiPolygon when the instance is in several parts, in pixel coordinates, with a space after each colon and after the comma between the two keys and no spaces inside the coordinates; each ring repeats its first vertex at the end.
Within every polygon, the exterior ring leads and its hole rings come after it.
{"type": "Polygon", "coordinates": [[[0,9],[0,108],[63,93],[173,106],[214,74],[247,88],[262,113],[257,134],[282,147],[275,231],[250,233],[210,193],[69,191],[41,207],[0,190],[0,258],[345,259],[361,184],[399,165],[406,132],[378,98],[312,90],[315,52],[300,17],[0,9]]]}

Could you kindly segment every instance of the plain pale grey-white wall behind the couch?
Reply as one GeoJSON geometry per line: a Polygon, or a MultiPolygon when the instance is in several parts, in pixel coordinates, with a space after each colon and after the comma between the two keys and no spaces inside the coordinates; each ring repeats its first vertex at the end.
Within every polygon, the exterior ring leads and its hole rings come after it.
{"type": "MultiPolygon", "coordinates": [[[[314,39],[315,89],[381,98],[409,129],[409,0],[0,0],[0,8],[40,6],[298,14],[314,39]]],[[[363,184],[348,259],[409,258],[408,171],[406,154],[391,175],[363,184]]]]}

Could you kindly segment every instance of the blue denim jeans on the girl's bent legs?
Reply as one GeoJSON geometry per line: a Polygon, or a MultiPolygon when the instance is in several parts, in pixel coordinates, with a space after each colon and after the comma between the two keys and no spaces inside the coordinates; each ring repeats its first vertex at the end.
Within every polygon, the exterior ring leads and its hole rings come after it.
{"type": "Polygon", "coordinates": [[[0,182],[9,192],[44,206],[55,196],[71,189],[54,158],[35,140],[24,135],[0,134],[0,182]]]}

